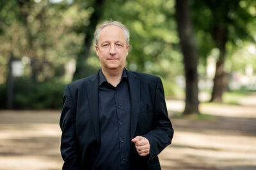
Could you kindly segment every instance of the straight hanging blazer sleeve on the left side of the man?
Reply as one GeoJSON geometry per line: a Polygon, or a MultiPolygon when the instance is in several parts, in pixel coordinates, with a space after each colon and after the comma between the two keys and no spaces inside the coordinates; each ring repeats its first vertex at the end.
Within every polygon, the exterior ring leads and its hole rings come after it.
{"type": "Polygon", "coordinates": [[[63,108],[60,117],[61,156],[64,169],[79,169],[76,146],[76,109],[68,85],[63,95],[63,108]]]}

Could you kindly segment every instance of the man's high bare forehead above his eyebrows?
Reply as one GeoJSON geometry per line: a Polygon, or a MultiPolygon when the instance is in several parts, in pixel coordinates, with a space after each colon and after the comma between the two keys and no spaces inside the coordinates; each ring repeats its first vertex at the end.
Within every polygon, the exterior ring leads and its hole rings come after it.
{"type": "Polygon", "coordinates": [[[100,31],[99,40],[102,41],[125,41],[124,31],[116,25],[108,25],[100,31]]]}

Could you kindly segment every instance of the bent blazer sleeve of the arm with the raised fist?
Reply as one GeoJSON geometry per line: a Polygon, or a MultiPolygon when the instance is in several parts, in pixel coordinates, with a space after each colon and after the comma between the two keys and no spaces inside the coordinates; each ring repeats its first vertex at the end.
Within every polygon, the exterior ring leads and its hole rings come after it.
{"type": "Polygon", "coordinates": [[[156,96],[155,96],[155,111],[152,131],[144,134],[150,143],[149,159],[156,157],[166,146],[172,143],[173,128],[164,99],[164,89],[160,78],[157,79],[156,96]]]}

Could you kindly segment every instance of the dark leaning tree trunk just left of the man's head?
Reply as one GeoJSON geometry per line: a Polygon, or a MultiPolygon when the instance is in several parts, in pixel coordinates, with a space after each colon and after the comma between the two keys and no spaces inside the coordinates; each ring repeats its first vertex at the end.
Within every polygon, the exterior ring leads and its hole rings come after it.
{"type": "Polygon", "coordinates": [[[86,59],[90,56],[90,48],[92,46],[93,33],[100,20],[103,11],[103,4],[105,0],[96,0],[93,4],[94,12],[90,16],[90,25],[85,29],[84,47],[81,53],[77,55],[76,61],[76,71],[73,76],[73,80],[83,78],[84,76],[89,76],[90,71],[88,66],[86,66],[86,59]],[[87,70],[86,70],[87,69],[87,70]]]}

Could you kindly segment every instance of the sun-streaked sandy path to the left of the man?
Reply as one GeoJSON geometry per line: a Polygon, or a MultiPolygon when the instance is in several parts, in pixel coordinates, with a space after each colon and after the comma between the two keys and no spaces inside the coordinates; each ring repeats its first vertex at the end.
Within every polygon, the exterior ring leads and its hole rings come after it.
{"type": "Polygon", "coordinates": [[[0,169],[61,169],[60,111],[0,111],[0,169]]]}

